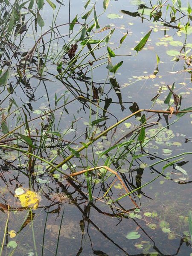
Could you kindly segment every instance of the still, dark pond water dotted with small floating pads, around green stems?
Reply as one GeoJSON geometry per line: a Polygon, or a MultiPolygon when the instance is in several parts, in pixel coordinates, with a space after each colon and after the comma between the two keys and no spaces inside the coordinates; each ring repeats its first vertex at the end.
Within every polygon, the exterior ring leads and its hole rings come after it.
{"type": "MultiPolygon", "coordinates": [[[[116,175],[106,169],[94,171],[87,177],[89,183],[92,180],[90,201],[84,174],[75,177],[78,182],[66,179],[57,171],[50,175],[46,169],[49,163],[45,162],[60,163],[71,153],[75,154],[73,150],[78,150],[81,142],[88,143],[88,138],[95,137],[138,109],[169,110],[169,105],[164,103],[169,93],[167,84],[171,87],[175,82],[174,91],[182,96],[180,109],[191,107],[192,16],[189,7],[187,11],[186,1],[109,1],[103,14],[103,1],[96,1],[96,15],[102,14],[98,16],[100,29],[110,25],[115,30],[105,46],[111,30],[94,33],[96,29],[93,28],[91,39],[101,43],[92,55],[90,47],[93,49],[95,44],[85,46],[81,51],[82,40],[77,42],[78,48],[72,54],[79,54],[79,59],[70,67],[73,70],[77,63],[79,67],[73,73],[67,71],[70,56],[62,49],[67,44],[71,47],[81,37],[81,26],[76,24],[69,35],[69,24],[58,25],[72,22],[76,15],[79,23],[85,23],[81,17],[92,9],[94,2],[90,1],[85,10],[85,1],[44,1],[39,12],[38,5],[43,1],[35,1],[30,11],[28,6],[32,2],[0,1],[3,31],[0,65],[3,73],[9,70],[6,82],[0,80],[1,121],[8,116],[6,125],[1,126],[1,136],[26,119],[34,119],[28,123],[30,142],[27,125],[1,138],[4,143],[1,145],[19,150],[3,146],[0,149],[0,256],[192,255],[189,232],[191,155],[165,160],[191,152],[191,113],[180,118],[173,114],[169,119],[169,114],[145,112],[148,125],[143,149],[136,144],[137,133],[133,133],[141,125],[141,115],[133,116],[59,168],[69,175],[87,169],[87,166],[106,166],[108,159],[110,168],[119,173],[126,189],[132,191],[160,175],[165,164],[175,161],[160,177],[131,194],[134,204],[128,196],[117,201],[126,191],[116,175]],[[14,16],[12,6],[16,3],[23,3],[20,17],[16,19],[15,16],[10,30],[13,34],[6,37],[6,26],[8,32],[10,29],[10,20],[6,17],[8,13],[14,16]],[[56,7],[54,12],[52,3],[56,7]],[[157,12],[150,18],[155,5],[157,12]],[[27,59],[25,68],[25,56],[35,41],[55,26],[58,27],[37,44],[35,52],[29,56],[30,66],[27,59]],[[20,27],[22,33],[18,33],[20,27]],[[152,32],[144,48],[137,56],[130,56],[135,55],[134,47],[150,29],[152,32]],[[119,41],[127,31],[128,35],[119,47],[119,41]],[[111,57],[113,66],[123,61],[114,76],[106,68],[107,46],[116,55],[111,57]],[[63,77],[57,69],[59,64],[62,64],[63,77]],[[159,91],[153,105],[151,99],[159,91]],[[98,103],[101,108],[97,107],[98,103]],[[46,115],[35,119],[45,111],[46,115]],[[53,111],[52,114],[47,114],[49,111],[53,111]],[[102,120],[90,126],[96,119],[102,120]],[[26,137],[20,134],[26,134],[26,137]],[[151,137],[154,138],[148,141],[151,137]],[[129,148],[114,148],[99,157],[119,140],[119,143],[135,141],[129,148]],[[31,142],[36,146],[33,154],[41,158],[32,166],[29,155],[21,151],[30,151],[31,142]],[[165,161],[152,166],[160,160],[165,161]]],[[[89,26],[94,23],[94,9],[86,23],[89,26]]],[[[84,38],[88,36],[84,35],[84,38]]],[[[171,103],[174,106],[173,99],[171,103]]]]}

